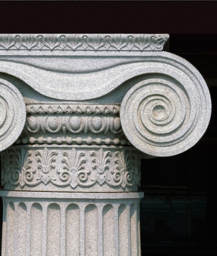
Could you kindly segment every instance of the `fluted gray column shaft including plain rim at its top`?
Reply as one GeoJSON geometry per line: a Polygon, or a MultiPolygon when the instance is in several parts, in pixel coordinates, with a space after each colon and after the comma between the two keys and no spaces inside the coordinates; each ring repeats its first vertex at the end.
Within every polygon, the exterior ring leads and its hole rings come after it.
{"type": "Polygon", "coordinates": [[[1,193],[2,255],[140,255],[143,193],[1,193]]]}

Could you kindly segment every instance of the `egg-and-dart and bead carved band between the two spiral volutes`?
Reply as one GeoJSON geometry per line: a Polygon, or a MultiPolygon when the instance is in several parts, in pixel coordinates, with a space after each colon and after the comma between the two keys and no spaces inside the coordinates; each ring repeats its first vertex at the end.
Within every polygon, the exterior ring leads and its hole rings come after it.
{"type": "Polygon", "coordinates": [[[119,105],[28,104],[16,144],[131,145],[120,124],[119,105]]]}

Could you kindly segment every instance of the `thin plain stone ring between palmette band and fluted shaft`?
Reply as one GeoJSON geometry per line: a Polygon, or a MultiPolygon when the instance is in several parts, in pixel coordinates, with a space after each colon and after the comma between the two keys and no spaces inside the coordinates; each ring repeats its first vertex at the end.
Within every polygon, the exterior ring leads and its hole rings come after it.
{"type": "Polygon", "coordinates": [[[1,197],[30,197],[53,198],[53,199],[131,199],[144,197],[143,192],[121,192],[121,193],[63,193],[63,192],[30,192],[30,191],[8,191],[0,190],[1,197]]]}

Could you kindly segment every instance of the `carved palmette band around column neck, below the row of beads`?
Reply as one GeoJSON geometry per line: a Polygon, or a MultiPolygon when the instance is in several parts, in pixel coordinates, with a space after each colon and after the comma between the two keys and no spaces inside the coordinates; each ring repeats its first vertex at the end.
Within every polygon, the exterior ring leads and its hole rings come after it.
{"type": "Polygon", "coordinates": [[[137,191],[140,155],[122,146],[14,146],[2,152],[6,190],[137,191]]]}

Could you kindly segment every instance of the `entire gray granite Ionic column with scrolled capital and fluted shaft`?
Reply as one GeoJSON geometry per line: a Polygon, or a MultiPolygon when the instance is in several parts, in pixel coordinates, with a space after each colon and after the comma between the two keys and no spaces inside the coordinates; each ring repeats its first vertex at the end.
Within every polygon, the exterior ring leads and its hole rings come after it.
{"type": "Polygon", "coordinates": [[[0,35],[2,256],[140,255],[140,159],[187,151],[211,115],[168,38],[0,35]]]}

